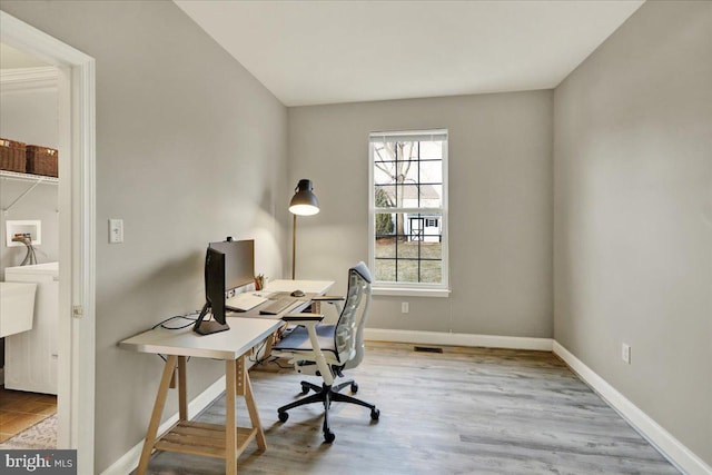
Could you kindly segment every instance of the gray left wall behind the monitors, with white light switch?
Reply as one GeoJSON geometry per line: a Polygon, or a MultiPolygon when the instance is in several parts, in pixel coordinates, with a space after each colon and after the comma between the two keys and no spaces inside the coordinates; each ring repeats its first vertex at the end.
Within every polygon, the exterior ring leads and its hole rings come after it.
{"type": "MultiPolygon", "coordinates": [[[[97,61],[96,471],[145,435],[162,362],[117,343],[202,303],[208,241],[283,276],[287,112],[170,1],[4,1],[97,61]],[[108,218],[126,243],[108,244],[108,218]]],[[[224,365],[191,362],[189,397],[224,365]]],[[[166,414],[177,410],[170,400],[166,414]]]]}

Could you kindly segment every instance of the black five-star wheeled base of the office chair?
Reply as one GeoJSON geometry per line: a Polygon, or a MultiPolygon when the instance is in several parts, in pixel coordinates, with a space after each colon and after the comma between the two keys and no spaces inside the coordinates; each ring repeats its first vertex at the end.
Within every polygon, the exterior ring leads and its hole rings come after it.
{"type": "Polygon", "coordinates": [[[378,420],[378,417],[380,417],[380,410],[378,410],[375,405],[370,403],[366,403],[365,400],[360,400],[356,397],[339,393],[339,390],[342,390],[346,386],[352,387],[352,393],[356,393],[358,390],[358,385],[353,379],[339,383],[334,386],[329,386],[326,383],[324,383],[322,387],[315,384],[312,384],[309,382],[303,380],[301,393],[307,394],[312,389],[315,392],[315,394],[304,397],[299,400],[295,400],[294,403],[286,404],[280,408],[278,408],[277,414],[279,416],[279,420],[281,420],[283,423],[287,422],[287,419],[289,418],[289,414],[287,414],[287,410],[289,409],[293,409],[298,406],[304,406],[306,404],[322,403],[324,405],[324,425],[322,426],[322,431],[324,433],[324,441],[326,441],[329,444],[334,442],[334,439],[336,438],[336,435],[334,435],[334,433],[329,428],[329,407],[332,406],[333,400],[336,400],[338,403],[357,404],[359,406],[368,407],[370,409],[372,420],[378,420]]]}

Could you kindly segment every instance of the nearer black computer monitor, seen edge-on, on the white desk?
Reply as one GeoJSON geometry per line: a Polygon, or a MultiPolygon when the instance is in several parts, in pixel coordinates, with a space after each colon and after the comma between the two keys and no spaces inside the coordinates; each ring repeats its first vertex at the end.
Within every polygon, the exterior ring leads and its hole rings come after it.
{"type": "Polygon", "coordinates": [[[205,256],[205,306],[192,326],[200,335],[225,331],[230,327],[225,319],[225,257],[224,253],[208,247],[205,256]],[[212,320],[205,320],[208,310],[212,320]]]}

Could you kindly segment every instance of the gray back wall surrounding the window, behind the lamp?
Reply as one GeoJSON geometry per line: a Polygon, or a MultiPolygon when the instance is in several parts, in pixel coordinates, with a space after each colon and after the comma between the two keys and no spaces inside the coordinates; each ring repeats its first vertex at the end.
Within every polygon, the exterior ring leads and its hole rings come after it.
{"type": "Polygon", "coordinates": [[[368,133],[446,128],[452,296],[376,296],[367,326],[552,337],[552,107],[533,91],[289,108],[289,181],[314,180],[322,208],[299,218],[297,277],[344,290],[368,259],[368,133]]]}

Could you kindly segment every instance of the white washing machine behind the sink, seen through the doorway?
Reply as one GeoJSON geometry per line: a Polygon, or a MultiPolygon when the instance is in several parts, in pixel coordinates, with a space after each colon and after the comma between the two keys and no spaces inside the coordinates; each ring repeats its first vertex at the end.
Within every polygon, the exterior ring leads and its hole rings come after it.
{"type": "Polygon", "coordinates": [[[4,280],[37,283],[32,329],[4,339],[4,387],[57,394],[59,263],[6,267],[4,280]]]}

